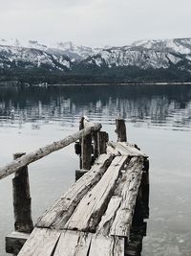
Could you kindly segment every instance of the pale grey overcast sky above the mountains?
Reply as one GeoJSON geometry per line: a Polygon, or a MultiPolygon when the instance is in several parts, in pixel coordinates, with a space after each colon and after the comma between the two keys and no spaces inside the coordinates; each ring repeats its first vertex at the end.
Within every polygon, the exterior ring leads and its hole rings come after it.
{"type": "Polygon", "coordinates": [[[125,45],[191,37],[191,0],[0,0],[0,37],[125,45]]]}

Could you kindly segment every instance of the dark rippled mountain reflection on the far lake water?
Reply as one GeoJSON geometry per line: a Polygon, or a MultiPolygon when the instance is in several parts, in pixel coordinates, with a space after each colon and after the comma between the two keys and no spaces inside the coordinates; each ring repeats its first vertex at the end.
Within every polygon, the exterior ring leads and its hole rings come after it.
{"type": "Polygon", "coordinates": [[[191,86],[52,86],[0,88],[0,126],[57,122],[74,126],[86,114],[102,123],[117,116],[140,126],[190,129],[191,86]]]}

